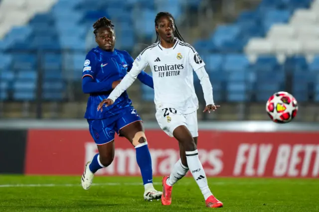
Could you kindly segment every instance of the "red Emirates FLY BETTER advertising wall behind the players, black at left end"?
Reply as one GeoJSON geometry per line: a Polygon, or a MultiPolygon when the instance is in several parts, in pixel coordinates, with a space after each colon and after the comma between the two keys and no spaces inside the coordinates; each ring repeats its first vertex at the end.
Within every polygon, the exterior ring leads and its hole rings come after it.
{"type": "MultiPolygon", "coordinates": [[[[81,175],[84,164],[97,152],[83,121],[34,120],[24,127],[22,123],[0,121],[1,173],[81,175]]],[[[154,175],[167,175],[179,157],[177,142],[156,123],[145,125],[154,175]]],[[[207,176],[319,177],[318,124],[254,121],[199,126],[198,149],[207,176]]],[[[117,137],[115,146],[114,162],[97,174],[140,175],[131,144],[117,137]]]]}

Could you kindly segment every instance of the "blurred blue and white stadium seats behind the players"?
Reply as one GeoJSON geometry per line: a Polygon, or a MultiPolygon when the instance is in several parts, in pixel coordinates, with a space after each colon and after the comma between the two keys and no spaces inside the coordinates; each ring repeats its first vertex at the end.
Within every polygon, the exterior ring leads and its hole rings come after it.
{"type": "MultiPolygon", "coordinates": [[[[154,40],[159,10],[168,8],[178,21],[185,6],[200,2],[1,0],[0,99],[34,100],[41,70],[45,100],[62,100],[65,81],[81,80],[86,51],[95,46],[92,23],[101,16],[114,21],[117,48],[130,52],[136,40],[154,40]]],[[[319,101],[319,0],[262,0],[192,45],[206,64],[216,101],[265,102],[287,89],[298,101],[312,94],[319,101]]],[[[194,83],[200,87],[196,76],[194,83]]],[[[143,100],[153,101],[152,89],[142,85],[141,91],[143,100]]]]}

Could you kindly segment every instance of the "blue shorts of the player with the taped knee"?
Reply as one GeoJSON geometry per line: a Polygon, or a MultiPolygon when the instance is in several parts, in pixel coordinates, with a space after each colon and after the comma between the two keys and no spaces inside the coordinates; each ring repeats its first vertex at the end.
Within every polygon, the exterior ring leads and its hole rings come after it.
{"type": "Polygon", "coordinates": [[[115,132],[130,123],[142,121],[140,115],[133,106],[125,107],[121,113],[105,119],[88,119],[89,130],[97,145],[106,144],[114,140],[115,132]]]}

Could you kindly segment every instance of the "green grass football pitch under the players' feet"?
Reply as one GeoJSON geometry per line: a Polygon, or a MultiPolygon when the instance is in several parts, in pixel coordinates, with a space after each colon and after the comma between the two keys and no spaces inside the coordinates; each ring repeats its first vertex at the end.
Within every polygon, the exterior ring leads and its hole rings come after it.
{"type": "MultiPolygon", "coordinates": [[[[139,177],[95,177],[85,191],[81,176],[0,175],[0,211],[12,212],[315,212],[319,211],[319,179],[209,178],[213,194],[224,203],[208,209],[192,178],[180,180],[172,204],[143,199],[139,177]]],[[[161,178],[155,187],[161,190],[161,178]]]]}

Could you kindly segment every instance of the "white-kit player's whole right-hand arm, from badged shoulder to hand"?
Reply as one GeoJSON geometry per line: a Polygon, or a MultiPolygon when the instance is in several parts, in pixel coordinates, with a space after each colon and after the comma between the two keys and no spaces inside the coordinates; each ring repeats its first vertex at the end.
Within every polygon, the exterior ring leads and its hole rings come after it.
{"type": "Polygon", "coordinates": [[[194,49],[192,49],[192,51],[189,51],[188,58],[189,63],[195,71],[198,79],[200,80],[200,85],[203,89],[204,99],[206,102],[206,106],[203,112],[210,112],[210,110],[217,109],[217,107],[220,106],[215,106],[214,104],[213,87],[210,83],[209,76],[204,68],[204,61],[200,58],[199,54],[194,49]]]}

